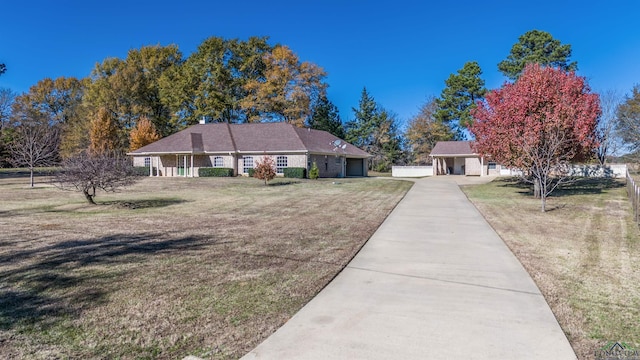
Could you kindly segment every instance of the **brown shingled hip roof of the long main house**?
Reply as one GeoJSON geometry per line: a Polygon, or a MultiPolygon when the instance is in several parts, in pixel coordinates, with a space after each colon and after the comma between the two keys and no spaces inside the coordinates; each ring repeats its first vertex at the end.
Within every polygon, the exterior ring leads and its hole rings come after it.
{"type": "Polygon", "coordinates": [[[309,152],[370,155],[336,136],[321,130],[303,129],[287,123],[198,124],[132,151],[130,155],[191,153],[309,152]],[[340,140],[341,146],[335,146],[340,140]],[[342,149],[342,145],[346,145],[342,149]]]}

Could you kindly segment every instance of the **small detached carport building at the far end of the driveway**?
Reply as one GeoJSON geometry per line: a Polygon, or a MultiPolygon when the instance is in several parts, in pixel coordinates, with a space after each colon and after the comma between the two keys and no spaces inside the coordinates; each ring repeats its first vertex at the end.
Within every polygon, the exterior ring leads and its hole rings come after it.
{"type": "Polygon", "coordinates": [[[439,141],[429,156],[433,175],[500,175],[500,165],[474,152],[472,141],[439,141]]]}

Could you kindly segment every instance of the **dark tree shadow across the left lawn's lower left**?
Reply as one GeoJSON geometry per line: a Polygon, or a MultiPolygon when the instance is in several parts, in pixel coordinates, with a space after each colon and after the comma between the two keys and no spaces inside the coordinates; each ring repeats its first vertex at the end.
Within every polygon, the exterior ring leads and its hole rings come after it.
{"type": "Polygon", "coordinates": [[[42,332],[78,318],[84,309],[108,301],[108,295],[122,286],[118,279],[126,276],[126,270],[115,265],[216,243],[195,236],[163,237],[117,234],[6,252],[0,256],[0,330],[42,332]],[[110,266],[96,270],[94,265],[110,266]]]}

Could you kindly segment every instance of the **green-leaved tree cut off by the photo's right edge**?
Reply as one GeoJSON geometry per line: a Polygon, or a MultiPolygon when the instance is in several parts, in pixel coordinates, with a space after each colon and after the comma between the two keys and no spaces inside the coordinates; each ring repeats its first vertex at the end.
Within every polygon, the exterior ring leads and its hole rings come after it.
{"type": "Polygon", "coordinates": [[[640,85],[626,95],[616,110],[616,134],[626,150],[637,155],[640,152],[640,85]]]}

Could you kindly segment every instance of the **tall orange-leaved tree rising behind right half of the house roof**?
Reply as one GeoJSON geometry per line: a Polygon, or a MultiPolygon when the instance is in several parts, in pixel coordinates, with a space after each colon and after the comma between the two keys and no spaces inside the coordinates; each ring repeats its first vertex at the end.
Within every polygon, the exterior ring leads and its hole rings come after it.
{"type": "Polygon", "coordinates": [[[248,121],[283,121],[303,127],[317,99],[324,94],[326,73],[311,62],[300,62],[286,46],[276,46],[263,57],[262,79],[247,81],[241,106],[248,121]]]}

